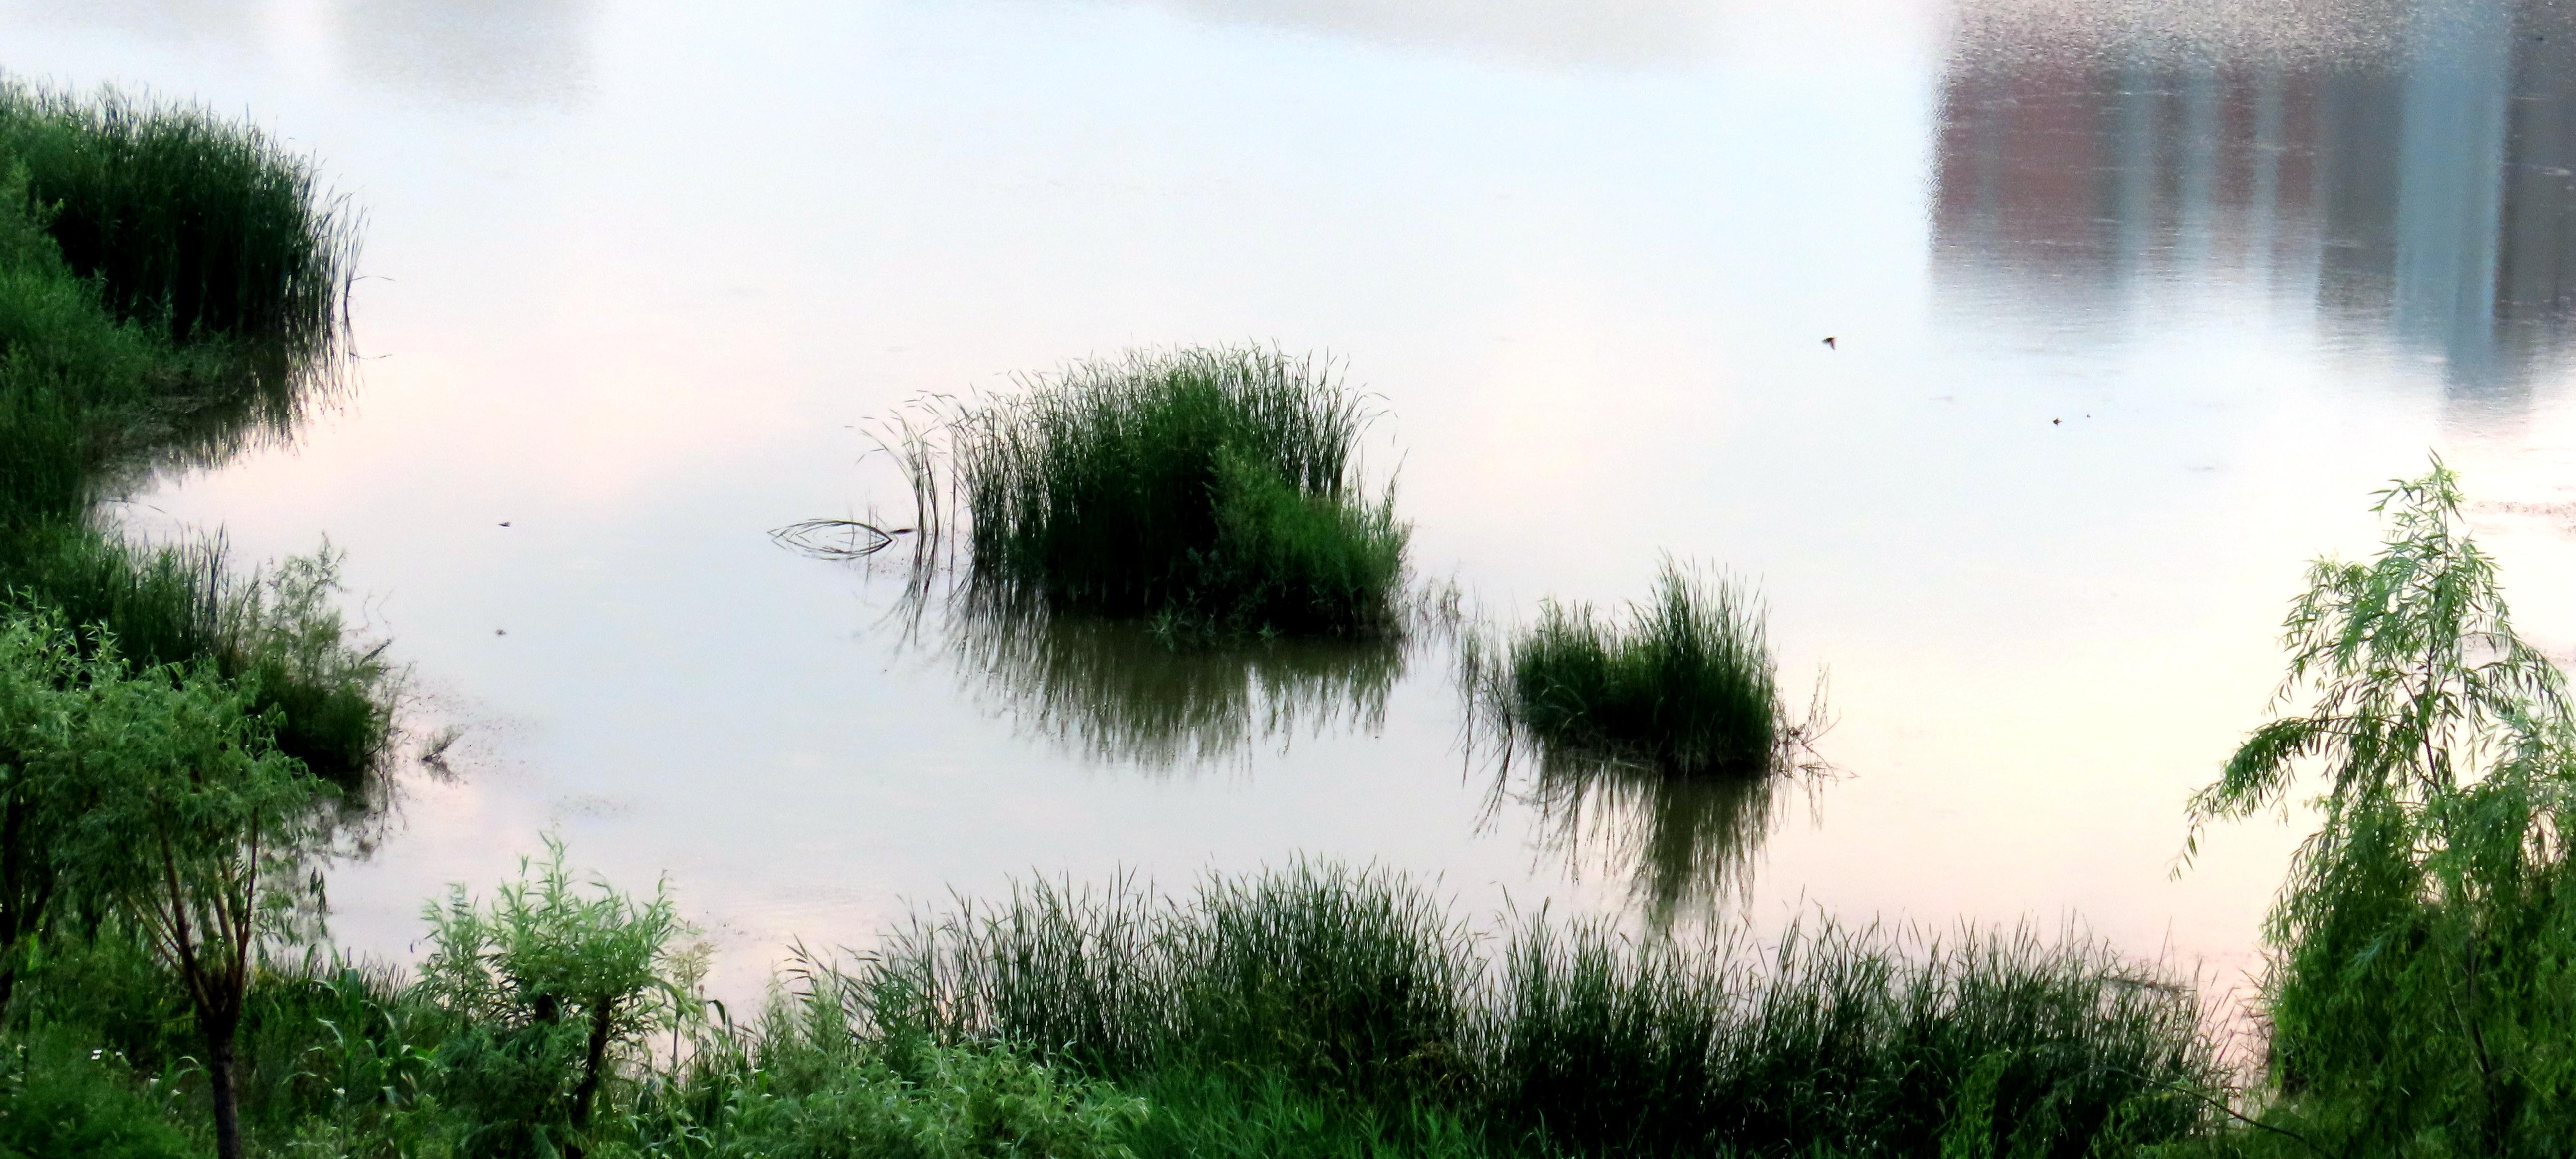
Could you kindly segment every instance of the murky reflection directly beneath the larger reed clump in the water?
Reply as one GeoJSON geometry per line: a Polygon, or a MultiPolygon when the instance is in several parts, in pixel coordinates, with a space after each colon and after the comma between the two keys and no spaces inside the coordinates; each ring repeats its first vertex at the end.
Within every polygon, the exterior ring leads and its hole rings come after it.
{"type": "Polygon", "coordinates": [[[1404,675],[1391,641],[1172,644],[1151,623],[961,600],[945,644],[1025,731],[1090,760],[1157,770],[1244,760],[1262,742],[1386,724],[1404,675]]]}

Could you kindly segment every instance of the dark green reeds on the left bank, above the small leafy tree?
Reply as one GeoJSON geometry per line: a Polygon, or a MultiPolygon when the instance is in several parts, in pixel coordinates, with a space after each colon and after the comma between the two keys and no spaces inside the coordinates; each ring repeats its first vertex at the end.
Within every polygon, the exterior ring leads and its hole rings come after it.
{"type": "MultiPolygon", "coordinates": [[[[327,366],[319,358],[337,325],[330,312],[340,273],[278,288],[268,306],[247,304],[247,291],[188,291],[201,309],[175,330],[188,335],[180,340],[152,304],[180,288],[124,281],[142,276],[134,270],[167,273],[180,258],[80,265],[57,240],[90,237],[100,252],[206,255],[268,247],[252,234],[301,221],[296,229],[312,232],[307,250],[330,250],[314,260],[343,263],[345,242],[307,185],[301,162],[247,129],[0,85],[0,446],[10,448],[0,456],[0,603],[106,626],[142,664],[211,657],[227,677],[258,685],[263,711],[283,713],[276,731],[289,755],[355,788],[392,734],[392,680],[376,654],[343,644],[325,600],[327,554],[237,580],[222,543],[129,546],[93,515],[100,495],[155,461],[206,458],[250,430],[291,422],[312,391],[301,368],[327,366]],[[118,165],[144,165],[139,157],[162,170],[116,175],[118,165]],[[242,188],[206,193],[227,183],[242,188]],[[155,201],[155,188],[167,203],[155,201]],[[299,198],[294,211],[276,206],[289,193],[299,198]],[[227,203],[273,221],[224,224],[211,214],[227,203]],[[67,224],[75,219],[90,227],[67,224]],[[160,234],[170,237],[152,242],[160,234]],[[314,286],[327,288],[325,301],[301,301],[314,286]]],[[[234,265],[278,263],[286,258],[234,265]]]]}

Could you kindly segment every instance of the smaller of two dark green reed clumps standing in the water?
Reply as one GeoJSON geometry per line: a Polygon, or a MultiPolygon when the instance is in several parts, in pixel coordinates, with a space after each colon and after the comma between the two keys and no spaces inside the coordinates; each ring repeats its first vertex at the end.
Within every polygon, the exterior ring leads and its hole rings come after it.
{"type": "Polygon", "coordinates": [[[1759,603],[1669,559],[1625,621],[1548,603],[1499,670],[1489,649],[1471,639],[1471,695],[1504,734],[1548,749],[1759,778],[1803,739],[1780,701],[1759,603]]]}

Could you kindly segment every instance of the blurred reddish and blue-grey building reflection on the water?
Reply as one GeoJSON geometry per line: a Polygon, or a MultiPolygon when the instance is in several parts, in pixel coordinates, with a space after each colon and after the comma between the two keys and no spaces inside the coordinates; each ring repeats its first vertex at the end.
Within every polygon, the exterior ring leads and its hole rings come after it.
{"type": "Polygon", "coordinates": [[[2311,306],[2336,348],[2385,343],[2439,361],[2452,397],[2506,404],[2563,358],[2576,13],[2275,3],[2043,26],[2025,8],[1971,8],[1942,82],[1953,306],[2110,337],[2156,286],[2233,281],[2311,306]]]}

